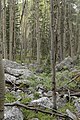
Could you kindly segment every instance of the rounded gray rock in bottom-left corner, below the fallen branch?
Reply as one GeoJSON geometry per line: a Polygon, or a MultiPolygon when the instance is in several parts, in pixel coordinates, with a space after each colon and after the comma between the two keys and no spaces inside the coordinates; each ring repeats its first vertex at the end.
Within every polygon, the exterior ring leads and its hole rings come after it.
{"type": "Polygon", "coordinates": [[[23,114],[17,107],[5,107],[5,120],[23,120],[23,114]]]}

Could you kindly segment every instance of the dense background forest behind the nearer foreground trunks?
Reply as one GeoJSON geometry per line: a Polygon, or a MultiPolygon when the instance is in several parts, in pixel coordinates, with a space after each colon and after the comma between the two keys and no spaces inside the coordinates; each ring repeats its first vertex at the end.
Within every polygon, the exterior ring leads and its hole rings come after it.
{"type": "MultiPolygon", "coordinates": [[[[3,57],[41,63],[50,54],[50,1],[2,3],[3,57]],[[9,31],[10,30],[10,31],[9,31]]],[[[59,0],[56,7],[57,61],[79,56],[79,0],[59,0]]]]}

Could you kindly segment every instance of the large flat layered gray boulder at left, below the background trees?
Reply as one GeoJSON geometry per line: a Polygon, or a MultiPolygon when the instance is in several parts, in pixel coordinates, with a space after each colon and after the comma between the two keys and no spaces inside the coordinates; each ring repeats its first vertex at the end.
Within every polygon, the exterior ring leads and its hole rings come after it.
{"type": "Polygon", "coordinates": [[[3,59],[3,65],[4,65],[5,73],[15,76],[17,79],[19,79],[19,77],[21,77],[22,79],[28,78],[34,75],[26,67],[26,65],[22,66],[21,64],[14,62],[14,61],[3,59]]]}

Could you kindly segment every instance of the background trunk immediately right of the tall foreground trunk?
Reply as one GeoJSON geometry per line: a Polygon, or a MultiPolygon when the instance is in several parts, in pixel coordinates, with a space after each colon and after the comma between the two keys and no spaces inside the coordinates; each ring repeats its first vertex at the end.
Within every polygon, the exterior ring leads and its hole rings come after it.
{"type": "Polygon", "coordinates": [[[63,35],[64,35],[64,19],[63,19],[63,1],[58,0],[58,58],[59,62],[63,60],[63,35]],[[62,3],[60,5],[60,2],[62,3]]]}

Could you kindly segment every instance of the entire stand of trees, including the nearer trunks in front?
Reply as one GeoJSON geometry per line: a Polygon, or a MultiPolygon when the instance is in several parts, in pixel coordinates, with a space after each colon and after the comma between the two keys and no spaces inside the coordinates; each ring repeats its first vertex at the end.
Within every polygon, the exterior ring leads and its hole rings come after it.
{"type": "Polygon", "coordinates": [[[49,67],[56,110],[55,66],[68,56],[80,59],[80,0],[0,0],[0,120],[4,114],[2,58],[36,63],[37,70],[49,67]]]}

